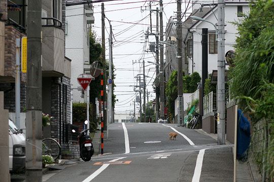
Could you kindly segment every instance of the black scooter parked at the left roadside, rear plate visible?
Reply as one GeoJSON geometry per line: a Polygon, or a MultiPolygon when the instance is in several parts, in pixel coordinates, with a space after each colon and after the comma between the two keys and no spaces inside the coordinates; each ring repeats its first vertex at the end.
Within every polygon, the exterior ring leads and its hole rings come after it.
{"type": "MultiPolygon", "coordinates": [[[[85,122],[85,124],[87,124],[87,123],[85,122]]],[[[80,146],[80,157],[84,161],[90,161],[90,158],[94,153],[92,141],[91,141],[89,135],[87,134],[88,130],[89,129],[82,130],[80,132],[80,134],[77,136],[79,146],[80,146]]],[[[76,132],[74,129],[72,131],[76,132]]]]}

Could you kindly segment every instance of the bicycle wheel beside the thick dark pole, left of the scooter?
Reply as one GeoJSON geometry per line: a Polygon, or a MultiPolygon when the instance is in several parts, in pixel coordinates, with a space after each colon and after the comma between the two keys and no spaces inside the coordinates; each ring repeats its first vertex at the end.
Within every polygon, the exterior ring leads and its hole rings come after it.
{"type": "Polygon", "coordinates": [[[54,139],[43,139],[42,140],[42,155],[50,155],[53,160],[56,160],[61,154],[61,146],[54,139]]]}

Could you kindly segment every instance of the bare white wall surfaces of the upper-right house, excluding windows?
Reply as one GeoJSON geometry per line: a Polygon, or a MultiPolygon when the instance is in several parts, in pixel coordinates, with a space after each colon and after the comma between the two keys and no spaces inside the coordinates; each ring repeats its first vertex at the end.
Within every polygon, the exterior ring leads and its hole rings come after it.
{"type": "MultiPolygon", "coordinates": [[[[243,4],[241,4],[243,5],[243,4]]],[[[248,4],[243,6],[243,12],[249,12],[248,4]]],[[[214,10],[216,17],[218,17],[217,8],[214,10]]],[[[204,19],[212,22],[213,24],[217,23],[217,20],[214,14],[209,14],[204,17],[204,19]]],[[[233,45],[235,44],[237,27],[233,25],[231,22],[238,21],[242,19],[242,17],[237,17],[237,6],[236,5],[226,5],[225,6],[225,53],[229,50],[234,50],[233,45]]],[[[214,27],[212,24],[207,22],[199,22],[197,25],[191,29],[193,32],[193,62],[194,68],[193,71],[198,72],[201,75],[201,59],[202,59],[202,52],[201,52],[201,28],[208,28],[209,33],[214,32],[214,27]]],[[[189,73],[192,73],[192,61],[188,58],[189,61],[189,73]]],[[[208,54],[208,72],[212,73],[212,70],[217,70],[218,65],[218,54],[208,54]]],[[[226,66],[228,68],[228,66],[226,66]]]]}

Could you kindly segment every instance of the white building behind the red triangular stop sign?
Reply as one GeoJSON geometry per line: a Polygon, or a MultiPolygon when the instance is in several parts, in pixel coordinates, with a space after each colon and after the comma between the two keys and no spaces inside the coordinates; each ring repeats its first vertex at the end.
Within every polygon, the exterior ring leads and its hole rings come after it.
{"type": "Polygon", "coordinates": [[[77,77],[89,72],[89,27],[94,23],[91,5],[66,7],[65,56],[72,60],[72,101],[85,102],[77,77]]]}

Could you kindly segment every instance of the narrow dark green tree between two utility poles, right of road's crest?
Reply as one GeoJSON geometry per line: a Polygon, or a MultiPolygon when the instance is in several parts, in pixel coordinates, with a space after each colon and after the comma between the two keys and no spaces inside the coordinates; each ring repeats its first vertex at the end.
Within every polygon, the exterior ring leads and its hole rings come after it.
{"type": "Polygon", "coordinates": [[[165,93],[167,96],[167,106],[168,112],[172,114],[172,118],[174,117],[174,110],[175,110],[175,100],[178,97],[178,71],[173,71],[170,75],[170,78],[167,82],[167,86],[165,89],[165,93]]]}

